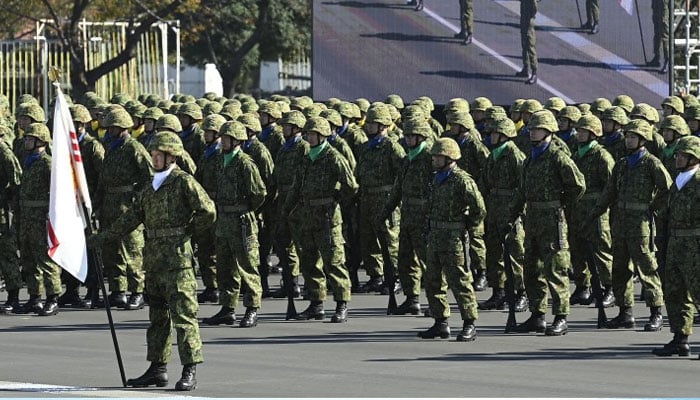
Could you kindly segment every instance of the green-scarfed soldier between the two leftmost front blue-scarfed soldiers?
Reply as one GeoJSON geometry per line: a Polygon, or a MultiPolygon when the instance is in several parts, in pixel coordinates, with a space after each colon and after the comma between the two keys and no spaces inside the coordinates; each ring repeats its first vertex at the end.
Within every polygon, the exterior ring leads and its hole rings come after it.
{"type": "MultiPolygon", "coordinates": [[[[488,300],[479,304],[480,310],[501,310],[506,301],[506,274],[503,257],[504,238],[499,232],[508,230],[510,209],[513,207],[515,193],[520,190],[520,177],[523,173],[525,154],[513,143],[517,136],[513,121],[507,118],[497,119],[492,123],[491,154],[484,167],[483,188],[486,199],[486,272],[489,286],[493,293],[488,300]]],[[[523,261],[525,232],[518,220],[513,232],[506,236],[513,268],[516,290],[515,309],[518,312],[527,310],[527,296],[523,283],[523,261]]]]}

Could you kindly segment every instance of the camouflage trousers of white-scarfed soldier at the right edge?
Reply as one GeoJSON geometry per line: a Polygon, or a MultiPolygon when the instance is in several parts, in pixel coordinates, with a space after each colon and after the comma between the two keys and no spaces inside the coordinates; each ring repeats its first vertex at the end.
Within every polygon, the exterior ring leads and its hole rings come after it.
{"type": "Polygon", "coordinates": [[[684,335],[693,333],[693,300],[700,301],[700,252],[697,249],[700,249],[700,237],[669,238],[664,300],[671,331],[684,335]]]}

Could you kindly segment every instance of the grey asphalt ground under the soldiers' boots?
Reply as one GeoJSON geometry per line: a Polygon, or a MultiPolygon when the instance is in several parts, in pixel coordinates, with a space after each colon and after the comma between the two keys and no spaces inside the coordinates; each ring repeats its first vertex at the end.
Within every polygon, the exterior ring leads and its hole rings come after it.
{"type": "MultiPolygon", "coordinates": [[[[275,286],[279,275],[271,275],[275,286]]],[[[362,279],[362,278],[361,278],[362,279]]],[[[639,293],[639,286],[636,287],[639,293]]],[[[484,300],[490,292],[480,292],[484,300]]],[[[26,296],[24,290],[22,296],[26,296]]],[[[4,295],[1,296],[4,298],[4,295]]],[[[507,313],[482,311],[478,338],[421,340],[432,320],[386,315],[388,296],[354,295],[347,323],[285,321],[286,300],[265,299],[256,328],[202,326],[202,397],[696,397],[697,355],[657,358],[668,326],[643,332],[648,316],[635,305],[638,327],[596,329],[594,308],[573,306],[569,333],[504,334],[507,313]]],[[[403,295],[398,296],[399,301],[403,295]]],[[[24,299],[23,299],[24,300],[24,299]]],[[[424,299],[423,299],[424,300],[424,299]]],[[[298,311],[307,302],[298,300],[298,311]]],[[[325,303],[327,311],[334,304],[325,303]]],[[[202,305],[200,318],[218,310],[202,305]]],[[[242,310],[240,310],[242,311],[242,310]]],[[[522,322],[529,313],[517,315],[522,322]]],[[[608,309],[608,316],[616,309],[608,309]]],[[[127,377],[145,361],[147,308],[113,312],[127,377]]],[[[552,316],[547,316],[548,322],[552,316]]],[[[693,338],[691,337],[691,340],[693,338]]],[[[697,345],[697,343],[696,343],[697,345]]],[[[697,346],[697,350],[700,346],[697,346]]],[[[55,317],[0,316],[2,397],[173,397],[181,367],[177,348],[166,388],[123,389],[104,310],[62,309],[55,317]]]]}

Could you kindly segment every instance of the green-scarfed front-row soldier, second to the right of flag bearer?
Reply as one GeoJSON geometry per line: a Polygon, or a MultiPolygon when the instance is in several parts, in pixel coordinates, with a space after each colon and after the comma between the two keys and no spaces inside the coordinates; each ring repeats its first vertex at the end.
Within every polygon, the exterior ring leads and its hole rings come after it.
{"type": "Polygon", "coordinates": [[[299,228],[301,272],[310,300],[298,320],[323,319],[326,286],[336,302],[331,322],[347,320],[350,277],[345,268],[342,216],[339,201],[352,198],[357,183],[345,158],[328,144],[331,128],[322,117],[306,120],[303,133],[310,148],[297,169],[292,190],[284,204],[284,214],[302,221],[299,228]],[[323,261],[319,265],[319,255],[323,261]]]}

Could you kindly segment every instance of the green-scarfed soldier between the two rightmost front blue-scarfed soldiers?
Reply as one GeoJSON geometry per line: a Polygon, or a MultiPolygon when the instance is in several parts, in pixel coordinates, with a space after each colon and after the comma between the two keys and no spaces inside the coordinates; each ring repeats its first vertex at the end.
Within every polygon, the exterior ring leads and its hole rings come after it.
{"type": "Polygon", "coordinates": [[[591,296],[591,270],[598,268],[600,283],[604,290],[603,306],[612,307],[615,296],[612,291],[612,251],[610,220],[606,210],[592,226],[584,227],[589,211],[600,197],[605,185],[610,180],[615,161],[597,138],[603,135],[600,120],[595,115],[584,115],[576,123],[576,140],[578,149],[572,155],[576,166],[586,178],[586,193],[573,204],[568,213],[571,242],[571,264],[574,267],[576,290],[571,295],[569,303],[589,305],[594,300],[591,296]],[[590,261],[592,257],[595,265],[590,261]]]}

